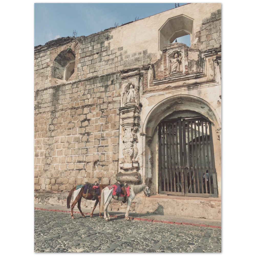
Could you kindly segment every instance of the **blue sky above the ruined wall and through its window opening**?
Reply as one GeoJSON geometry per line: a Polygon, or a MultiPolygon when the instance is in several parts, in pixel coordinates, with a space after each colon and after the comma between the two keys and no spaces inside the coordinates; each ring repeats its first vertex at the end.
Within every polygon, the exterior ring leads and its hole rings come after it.
{"type": "MultiPolygon", "coordinates": [[[[175,3],[34,3],[34,46],[73,36],[73,30],[88,36],[172,8],[175,3]]],[[[190,46],[189,36],[177,41],[190,46]]]]}

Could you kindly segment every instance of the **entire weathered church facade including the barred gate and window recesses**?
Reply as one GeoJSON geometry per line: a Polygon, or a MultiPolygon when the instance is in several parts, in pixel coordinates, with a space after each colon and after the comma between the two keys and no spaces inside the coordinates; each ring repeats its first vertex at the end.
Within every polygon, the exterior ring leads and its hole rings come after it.
{"type": "Polygon", "coordinates": [[[34,62],[36,204],[147,183],[131,210],[221,219],[221,3],[52,40],[34,62]],[[184,35],[190,47],[172,43],[184,35]]]}

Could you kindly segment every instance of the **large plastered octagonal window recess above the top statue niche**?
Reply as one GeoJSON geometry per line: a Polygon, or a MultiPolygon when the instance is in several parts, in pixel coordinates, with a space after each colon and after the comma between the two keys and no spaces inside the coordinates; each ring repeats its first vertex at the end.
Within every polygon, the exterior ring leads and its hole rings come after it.
{"type": "Polygon", "coordinates": [[[159,50],[172,43],[176,38],[193,34],[193,19],[185,15],[180,15],[168,19],[159,29],[159,50]]]}

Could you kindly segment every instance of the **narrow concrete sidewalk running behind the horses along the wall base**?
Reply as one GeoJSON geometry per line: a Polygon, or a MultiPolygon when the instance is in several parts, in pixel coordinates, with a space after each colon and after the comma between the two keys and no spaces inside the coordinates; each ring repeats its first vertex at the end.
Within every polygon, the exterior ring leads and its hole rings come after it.
{"type": "MultiPolygon", "coordinates": [[[[34,205],[34,209],[71,212],[70,209],[67,209],[67,207],[54,206],[54,205],[34,205]]],[[[83,211],[84,215],[86,214],[90,215],[92,208],[81,207],[81,210],[83,211]]],[[[81,215],[77,207],[74,207],[73,213],[75,218],[76,218],[76,214],[81,215]]],[[[109,211],[109,214],[112,218],[124,218],[125,216],[125,212],[120,212],[120,211],[109,211]]],[[[98,207],[94,210],[93,215],[95,217],[99,216],[98,207]]],[[[203,226],[203,227],[211,227],[211,228],[221,228],[221,220],[185,218],[185,217],[171,216],[171,215],[137,214],[134,212],[129,212],[129,217],[132,220],[134,219],[134,220],[141,220],[141,221],[164,222],[164,223],[177,224],[177,225],[194,225],[194,226],[203,226]]]]}

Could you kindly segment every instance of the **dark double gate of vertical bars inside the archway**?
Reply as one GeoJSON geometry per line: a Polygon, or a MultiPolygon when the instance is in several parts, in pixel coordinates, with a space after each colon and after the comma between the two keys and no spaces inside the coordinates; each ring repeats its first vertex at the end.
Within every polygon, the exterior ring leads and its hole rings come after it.
{"type": "Polygon", "coordinates": [[[159,193],[217,197],[211,122],[164,120],[158,125],[159,193]]]}

